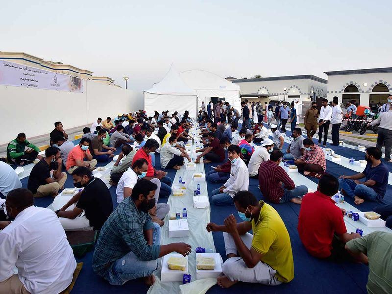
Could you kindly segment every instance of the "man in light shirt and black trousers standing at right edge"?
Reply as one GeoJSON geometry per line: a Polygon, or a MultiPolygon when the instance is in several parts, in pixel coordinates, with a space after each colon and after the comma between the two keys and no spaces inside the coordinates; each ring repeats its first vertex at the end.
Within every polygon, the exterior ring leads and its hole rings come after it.
{"type": "Polygon", "coordinates": [[[388,96],[389,110],[381,112],[380,116],[370,123],[370,125],[377,125],[378,137],[377,137],[377,148],[381,151],[383,145],[385,145],[385,161],[392,162],[391,160],[391,147],[392,147],[392,96],[388,96]]]}

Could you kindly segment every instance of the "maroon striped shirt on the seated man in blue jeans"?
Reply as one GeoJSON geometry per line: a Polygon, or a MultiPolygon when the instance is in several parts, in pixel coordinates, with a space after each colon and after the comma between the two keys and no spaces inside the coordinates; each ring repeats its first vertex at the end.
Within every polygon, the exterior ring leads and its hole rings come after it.
{"type": "Polygon", "coordinates": [[[293,180],[285,170],[272,160],[263,162],[259,168],[259,185],[263,196],[272,203],[280,203],[284,189],[292,190],[295,188],[293,180]]]}

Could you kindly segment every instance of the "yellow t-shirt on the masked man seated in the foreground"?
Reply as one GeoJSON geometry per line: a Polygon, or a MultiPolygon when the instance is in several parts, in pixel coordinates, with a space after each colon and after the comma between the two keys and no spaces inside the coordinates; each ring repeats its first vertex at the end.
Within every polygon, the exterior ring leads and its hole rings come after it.
{"type": "Polygon", "coordinates": [[[276,270],[276,278],[284,283],[294,278],[293,252],[286,226],[278,212],[260,201],[262,208],[257,223],[252,220],[252,248],[263,254],[261,261],[276,270]]]}

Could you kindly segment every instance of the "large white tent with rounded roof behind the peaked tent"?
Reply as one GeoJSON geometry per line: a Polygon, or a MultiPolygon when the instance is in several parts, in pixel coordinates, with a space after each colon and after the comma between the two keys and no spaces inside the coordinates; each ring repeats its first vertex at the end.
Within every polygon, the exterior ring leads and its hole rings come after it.
{"type": "Polygon", "coordinates": [[[189,70],[180,73],[181,79],[196,90],[198,106],[207,104],[211,97],[225,98],[236,109],[241,108],[240,86],[224,78],[203,70],[189,70]]]}

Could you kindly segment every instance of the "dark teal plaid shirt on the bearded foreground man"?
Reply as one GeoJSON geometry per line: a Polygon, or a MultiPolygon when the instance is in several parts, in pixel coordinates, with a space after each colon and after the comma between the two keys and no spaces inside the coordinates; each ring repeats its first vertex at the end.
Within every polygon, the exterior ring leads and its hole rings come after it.
{"type": "Polygon", "coordinates": [[[117,206],[102,227],[93,256],[93,270],[104,277],[113,263],[129,252],[139,260],[157,259],[159,245],[148,245],[144,232],[153,229],[148,213],[139,212],[131,197],[117,206]]]}

